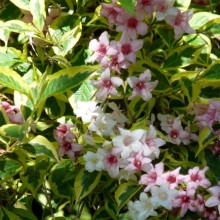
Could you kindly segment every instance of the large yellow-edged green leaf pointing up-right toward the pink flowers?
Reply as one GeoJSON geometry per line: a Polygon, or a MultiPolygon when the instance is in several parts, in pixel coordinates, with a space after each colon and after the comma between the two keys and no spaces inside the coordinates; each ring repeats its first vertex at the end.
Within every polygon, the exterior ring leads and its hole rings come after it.
{"type": "Polygon", "coordinates": [[[79,66],[60,70],[48,76],[47,86],[41,94],[39,102],[44,101],[50,96],[64,93],[65,91],[79,86],[95,70],[97,66],[79,66]]]}

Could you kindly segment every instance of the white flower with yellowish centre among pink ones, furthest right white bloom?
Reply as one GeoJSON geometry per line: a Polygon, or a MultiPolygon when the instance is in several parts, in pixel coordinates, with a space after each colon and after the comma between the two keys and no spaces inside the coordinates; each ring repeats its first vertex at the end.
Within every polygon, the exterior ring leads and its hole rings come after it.
{"type": "Polygon", "coordinates": [[[163,206],[168,210],[172,209],[172,201],[177,196],[177,194],[178,190],[169,189],[167,183],[162,184],[160,187],[151,187],[152,200],[155,202],[157,206],[163,206]]]}

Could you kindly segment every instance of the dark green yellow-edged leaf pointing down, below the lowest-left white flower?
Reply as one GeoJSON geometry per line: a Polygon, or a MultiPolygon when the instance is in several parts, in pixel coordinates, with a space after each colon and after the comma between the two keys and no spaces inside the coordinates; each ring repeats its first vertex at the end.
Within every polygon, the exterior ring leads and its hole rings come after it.
{"type": "Polygon", "coordinates": [[[74,182],[74,190],[77,201],[82,200],[95,189],[99,183],[101,175],[102,172],[88,172],[85,169],[81,169],[74,182]]]}

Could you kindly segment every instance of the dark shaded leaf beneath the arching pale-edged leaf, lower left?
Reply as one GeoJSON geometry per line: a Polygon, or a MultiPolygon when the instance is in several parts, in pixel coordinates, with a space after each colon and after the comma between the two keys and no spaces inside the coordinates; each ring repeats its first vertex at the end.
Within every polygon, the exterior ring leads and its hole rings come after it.
{"type": "Polygon", "coordinates": [[[27,169],[20,174],[23,184],[33,193],[34,197],[38,189],[42,187],[49,163],[49,158],[39,156],[36,158],[35,164],[28,165],[27,169]]]}

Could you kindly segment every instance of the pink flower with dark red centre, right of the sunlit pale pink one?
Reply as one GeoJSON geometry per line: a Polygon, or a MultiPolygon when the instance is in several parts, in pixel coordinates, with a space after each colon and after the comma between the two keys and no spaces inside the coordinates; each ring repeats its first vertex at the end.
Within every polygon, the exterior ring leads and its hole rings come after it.
{"type": "Polygon", "coordinates": [[[121,53],[124,55],[125,59],[131,63],[136,62],[136,52],[140,50],[143,46],[143,40],[131,40],[129,34],[124,32],[120,41],[118,42],[118,47],[121,53]]]}

